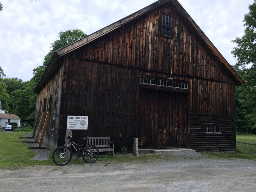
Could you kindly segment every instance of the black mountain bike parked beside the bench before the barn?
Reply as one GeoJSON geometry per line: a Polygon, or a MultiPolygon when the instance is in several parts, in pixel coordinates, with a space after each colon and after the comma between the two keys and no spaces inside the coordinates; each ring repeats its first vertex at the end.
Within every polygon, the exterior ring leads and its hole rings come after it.
{"type": "Polygon", "coordinates": [[[99,149],[95,145],[87,143],[87,138],[82,138],[84,140],[82,145],[73,142],[71,136],[68,136],[67,139],[69,139],[67,146],[59,146],[52,153],[52,160],[57,165],[66,165],[71,161],[73,156],[73,152],[70,149],[71,146],[73,146],[77,152],[76,159],[82,156],[86,163],[94,163],[99,158],[99,149]],[[68,147],[69,144],[70,147],[68,147]]]}

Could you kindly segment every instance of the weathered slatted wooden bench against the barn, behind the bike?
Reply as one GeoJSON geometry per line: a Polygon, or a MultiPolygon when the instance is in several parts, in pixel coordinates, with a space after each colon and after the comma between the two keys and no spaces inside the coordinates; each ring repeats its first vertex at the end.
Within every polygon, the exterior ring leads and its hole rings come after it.
{"type": "Polygon", "coordinates": [[[95,145],[100,152],[113,151],[114,155],[114,142],[110,142],[110,137],[87,137],[87,143],[95,145]],[[112,144],[112,148],[111,145],[112,144]]]}

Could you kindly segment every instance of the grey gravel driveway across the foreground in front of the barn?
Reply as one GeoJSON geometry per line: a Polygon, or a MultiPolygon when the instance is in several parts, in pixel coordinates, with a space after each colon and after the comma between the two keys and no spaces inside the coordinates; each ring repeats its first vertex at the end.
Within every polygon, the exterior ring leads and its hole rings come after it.
{"type": "Polygon", "coordinates": [[[242,159],[35,166],[0,177],[0,192],[256,191],[256,163],[242,159]]]}

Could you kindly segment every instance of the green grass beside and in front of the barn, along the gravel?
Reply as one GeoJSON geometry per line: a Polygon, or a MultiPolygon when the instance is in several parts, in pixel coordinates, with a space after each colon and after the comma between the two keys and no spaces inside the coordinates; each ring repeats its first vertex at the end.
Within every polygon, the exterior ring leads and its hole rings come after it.
{"type": "MultiPolygon", "coordinates": [[[[24,168],[27,166],[35,165],[55,165],[52,161],[51,154],[48,160],[39,161],[32,160],[36,155],[36,152],[28,149],[28,143],[21,143],[19,137],[23,137],[26,133],[31,133],[31,129],[17,128],[14,132],[3,132],[0,131],[0,169],[13,169],[13,168],[24,168]]],[[[256,135],[250,134],[237,134],[237,141],[256,143],[256,135]]],[[[246,146],[250,148],[256,148],[256,146],[248,146],[246,144],[239,144],[237,146],[246,146]]],[[[237,148],[234,153],[209,153],[201,152],[209,158],[214,159],[249,159],[256,161],[256,155],[245,154],[247,149],[237,148]]],[[[251,151],[252,152],[252,151],[251,151]]],[[[255,153],[255,152],[254,152],[255,153]]],[[[133,156],[132,154],[116,154],[111,155],[100,155],[97,162],[103,163],[105,166],[115,163],[151,163],[154,161],[178,161],[187,158],[201,158],[201,157],[184,157],[184,156],[170,156],[162,153],[161,155],[156,154],[143,154],[140,156],[133,156]]],[[[69,164],[85,164],[82,158],[73,157],[69,164]]],[[[92,164],[90,164],[92,165],[92,164]]],[[[59,167],[56,165],[56,170],[59,167]]]]}

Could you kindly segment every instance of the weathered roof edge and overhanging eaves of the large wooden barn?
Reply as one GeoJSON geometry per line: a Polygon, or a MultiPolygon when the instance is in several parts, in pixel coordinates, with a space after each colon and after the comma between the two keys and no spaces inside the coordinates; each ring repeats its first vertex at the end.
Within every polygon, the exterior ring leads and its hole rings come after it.
{"type": "Polygon", "coordinates": [[[77,48],[84,46],[85,44],[88,44],[88,43],[92,42],[93,40],[109,33],[110,31],[113,31],[116,28],[123,26],[124,24],[140,17],[141,15],[143,15],[143,14],[145,14],[145,13],[155,9],[156,7],[163,5],[167,2],[171,3],[176,8],[176,10],[180,13],[181,17],[183,17],[182,19],[189,25],[189,27],[191,29],[194,30],[194,32],[197,34],[197,36],[204,42],[204,44],[208,48],[208,50],[210,50],[213,53],[213,55],[223,64],[223,67],[226,68],[227,71],[230,73],[230,75],[233,77],[235,85],[243,84],[244,83],[243,80],[238,76],[236,71],[231,67],[231,65],[228,63],[228,61],[222,56],[222,54],[217,50],[217,48],[212,44],[212,42],[209,40],[209,38],[198,27],[196,22],[189,16],[188,12],[186,12],[186,10],[181,6],[181,4],[177,0],[158,0],[155,3],[150,4],[147,7],[143,8],[135,13],[132,13],[131,15],[129,15],[125,18],[123,18],[119,21],[116,21],[115,23],[108,25],[107,27],[102,28],[102,29],[92,33],[91,35],[85,36],[84,38],[55,51],[52,55],[50,62],[47,65],[41,79],[39,80],[36,87],[34,88],[33,92],[38,92],[40,90],[40,88],[43,86],[43,84],[45,83],[45,81],[47,81],[51,77],[54,69],[57,67],[57,65],[55,65],[55,64],[61,57],[68,54],[69,52],[72,52],[72,51],[76,50],[77,48]]]}

